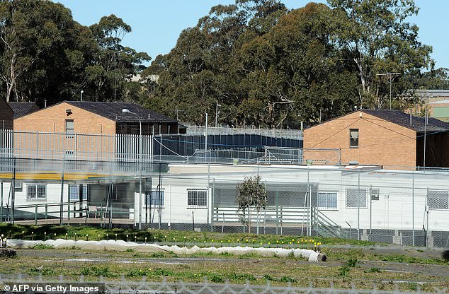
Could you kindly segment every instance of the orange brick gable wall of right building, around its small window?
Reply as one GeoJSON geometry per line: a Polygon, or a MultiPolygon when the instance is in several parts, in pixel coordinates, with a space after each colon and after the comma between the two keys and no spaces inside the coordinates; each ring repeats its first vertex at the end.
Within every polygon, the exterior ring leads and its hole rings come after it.
{"type": "Polygon", "coordinates": [[[340,148],[341,163],[416,166],[416,132],[363,112],[306,129],[304,148],[340,148]],[[349,147],[349,129],[359,129],[358,148],[349,147]]]}

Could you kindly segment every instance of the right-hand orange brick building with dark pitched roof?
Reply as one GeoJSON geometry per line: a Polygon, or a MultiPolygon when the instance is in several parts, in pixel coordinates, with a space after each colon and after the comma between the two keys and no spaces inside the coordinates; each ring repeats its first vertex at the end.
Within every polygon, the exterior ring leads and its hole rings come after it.
{"type": "Polygon", "coordinates": [[[358,110],[306,129],[304,148],[339,148],[341,163],[449,167],[448,131],[449,124],[438,119],[426,122],[397,110],[358,110]]]}

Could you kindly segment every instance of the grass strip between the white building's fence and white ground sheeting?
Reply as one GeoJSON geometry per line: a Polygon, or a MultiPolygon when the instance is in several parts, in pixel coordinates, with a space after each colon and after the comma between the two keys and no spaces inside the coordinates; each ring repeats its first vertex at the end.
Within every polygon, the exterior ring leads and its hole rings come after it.
{"type": "Polygon", "coordinates": [[[132,229],[106,229],[89,226],[70,225],[12,225],[0,224],[0,234],[9,239],[49,240],[55,238],[71,240],[125,240],[137,242],[159,242],[169,245],[199,247],[223,246],[264,246],[284,248],[314,248],[314,243],[322,245],[374,245],[374,242],[345,240],[329,237],[302,237],[281,235],[256,235],[249,233],[214,233],[193,232],[179,230],[132,230],[132,229]],[[145,241],[145,238],[146,241],[145,241]],[[311,241],[312,240],[312,241],[311,241]],[[270,245],[268,245],[268,243],[270,245]]]}

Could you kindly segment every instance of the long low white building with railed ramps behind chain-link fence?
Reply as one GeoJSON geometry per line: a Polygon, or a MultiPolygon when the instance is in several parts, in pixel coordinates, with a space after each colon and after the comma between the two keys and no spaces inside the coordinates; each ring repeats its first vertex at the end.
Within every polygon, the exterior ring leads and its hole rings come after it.
{"type": "Polygon", "coordinates": [[[448,247],[448,211],[444,170],[0,158],[0,218],[10,223],[448,247]],[[267,206],[253,209],[244,225],[237,215],[237,184],[256,175],[266,186],[267,206]]]}

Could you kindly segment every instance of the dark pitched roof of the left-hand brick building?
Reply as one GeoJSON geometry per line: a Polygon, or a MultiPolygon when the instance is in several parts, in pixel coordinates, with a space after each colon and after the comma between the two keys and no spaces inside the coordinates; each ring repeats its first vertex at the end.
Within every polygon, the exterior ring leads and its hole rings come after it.
{"type": "Polygon", "coordinates": [[[125,102],[91,102],[91,101],[64,101],[69,105],[101,115],[114,122],[139,122],[137,115],[123,112],[123,109],[138,114],[142,122],[178,122],[176,119],[166,117],[164,114],[154,112],[135,103],[125,102]]]}

